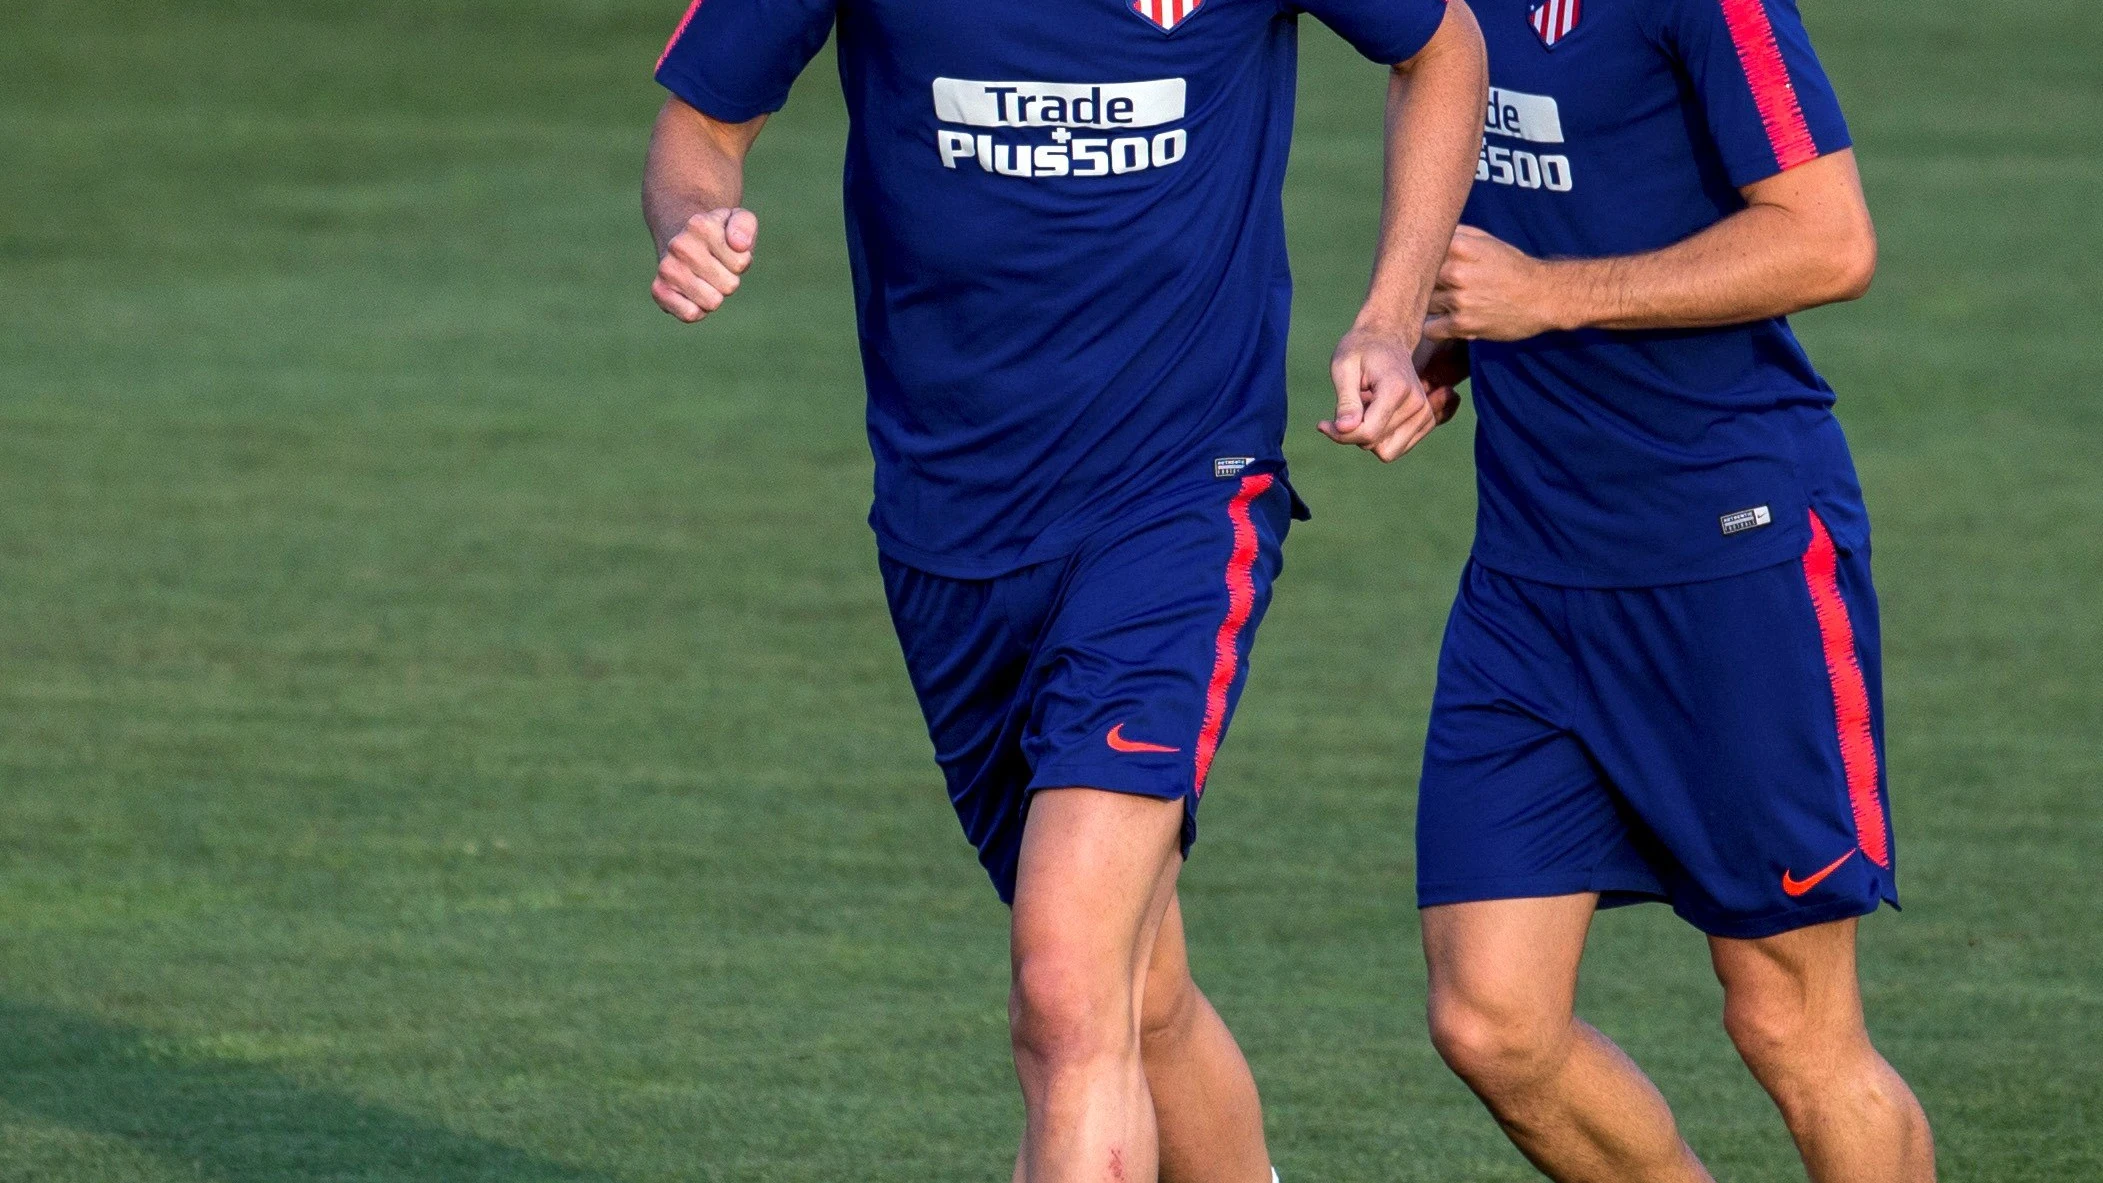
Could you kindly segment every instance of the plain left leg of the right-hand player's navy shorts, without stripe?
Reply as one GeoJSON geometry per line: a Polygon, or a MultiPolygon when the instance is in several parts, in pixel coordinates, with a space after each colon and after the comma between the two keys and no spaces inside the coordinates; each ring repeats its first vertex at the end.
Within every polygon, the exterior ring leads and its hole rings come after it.
{"type": "Polygon", "coordinates": [[[1417,786],[1417,906],[1659,893],[1571,731],[1560,588],[1470,565],[1438,653],[1417,786]]]}

